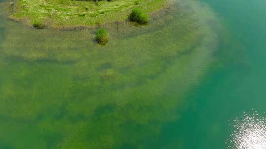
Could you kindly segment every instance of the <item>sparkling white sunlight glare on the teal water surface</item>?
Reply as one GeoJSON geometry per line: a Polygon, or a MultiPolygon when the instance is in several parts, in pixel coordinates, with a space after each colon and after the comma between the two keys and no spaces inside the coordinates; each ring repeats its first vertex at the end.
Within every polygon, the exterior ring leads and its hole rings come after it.
{"type": "Polygon", "coordinates": [[[236,118],[227,149],[266,149],[266,119],[257,111],[236,118]]]}

